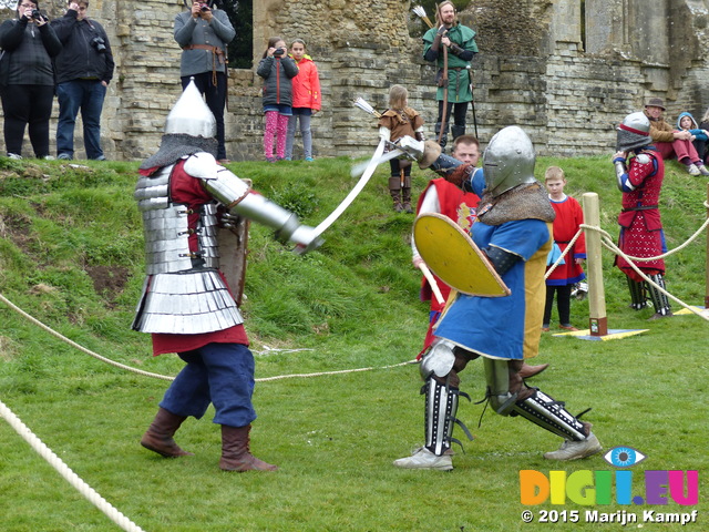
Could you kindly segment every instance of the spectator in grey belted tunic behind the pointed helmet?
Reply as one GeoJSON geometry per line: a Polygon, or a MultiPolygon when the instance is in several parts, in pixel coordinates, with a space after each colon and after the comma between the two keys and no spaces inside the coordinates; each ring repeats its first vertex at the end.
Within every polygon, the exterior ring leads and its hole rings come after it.
{"type": "Polygon", "coordinates": [[[217,120],[217,161],[226,156],[224,108],[227,93],[227,44],[236,35],[226,11],[216,9],[214,0],[195,1],[189,11],[175,17],[174,37],[183,49],[179,76],[183,91],[194,78],[195,85],[217,120]]]}

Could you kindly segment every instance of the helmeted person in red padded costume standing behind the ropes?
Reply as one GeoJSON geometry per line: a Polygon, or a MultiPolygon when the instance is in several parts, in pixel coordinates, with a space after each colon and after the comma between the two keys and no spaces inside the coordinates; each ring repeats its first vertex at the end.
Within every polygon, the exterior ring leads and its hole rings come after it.
{"type": "MultiPolygon", "coordinates": [[[[618,246],[624,254],[639,258],[656,257],[667,250],[658,205],[665,162],[651,143],[650,121],[645,113],[628,114],[618,126],[617,152],[613,157],[618,188],[623,192],[618,246]]],[[[630,308],[645,308],[649,294],[655,307],[655,315],[650,319],[672,315],[667,296],[657,288],[665,288],[665,260],[657,258],[633,263],[654,284],[646,283],[626,258],[618,256],[615,264],[627,276],[630,308]]]]}

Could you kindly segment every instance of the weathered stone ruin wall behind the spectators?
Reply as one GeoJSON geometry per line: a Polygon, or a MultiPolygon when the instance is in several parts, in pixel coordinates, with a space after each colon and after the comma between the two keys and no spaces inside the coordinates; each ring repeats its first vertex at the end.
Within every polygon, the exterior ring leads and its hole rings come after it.
{"type": "MultiPolygon", "coordinates": [[[[318,65],[323,110],[312,120],[316,156],[369,154],[377,143],[376,120],[351,102],[362,96],[383,110],[392,83],[409,89],[410,104],[433,136],[435,71],[421,59],[420,37],[409,35],[409,0],[254,3],[254,64],[268,37],[279,34],[287,41],[304,38],[318,65]]],[[[709,41],[709,0],[585,3],[587,50],[578,0],[476,0],[460,13],[477,32],[481,50],[473,70],[483,144],[499,129],[516,124],[542,155],[609,154],[614,125],[650,96],[665,99],[672,121],[685,110],[701,117],[709,105],[701,53],[709,41]]],[[[183,9],[178,0],[91,2],[116,61],[102,122],[109,158],[141,160],[160,144],[181,92],[181,52],[172,29],[183,9]]],[[[230,70],[225,119],[233,160],[263,160],[260,85],[255,68],[230,70]]],[[[472,133],[472,110],[467,122],[472,133]]],[[[81,124],[76,141],[79,149],[81,124]]],[[[297,139],[295,156],[299,149],[297,139]]]]}

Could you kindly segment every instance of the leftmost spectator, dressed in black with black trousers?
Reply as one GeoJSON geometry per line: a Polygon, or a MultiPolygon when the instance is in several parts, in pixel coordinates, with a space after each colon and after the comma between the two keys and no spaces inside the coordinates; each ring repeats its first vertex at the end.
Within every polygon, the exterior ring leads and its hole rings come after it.
{"type": "Polygon", "coordinates": [[[8,156],[22,158],[24,130],[38,158],[49,157],[49,119],[54,100],[52,58],[62,49],[37,1],[18,0],[17,18],[0,25],[0,98],[8,156]]]}

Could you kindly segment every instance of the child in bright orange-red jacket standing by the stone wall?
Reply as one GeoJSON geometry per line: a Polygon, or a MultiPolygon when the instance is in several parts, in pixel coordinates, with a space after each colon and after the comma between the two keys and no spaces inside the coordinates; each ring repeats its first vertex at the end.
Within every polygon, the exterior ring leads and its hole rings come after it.
{"type": "Polygon", "coordinates": [[[320,78],[318,68],[306,54],[306,43],[296,39],[290,44],[290,57],[298,65],[299,72],[292,79],[292,115],[288,119],[286,137],[286,160],[292,158],[292,143],[296,137],[296,122],[300,121],[300,136],[306,161],[312,161],[312,133],[310,116],[320,111],[320,78]]]}

